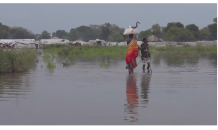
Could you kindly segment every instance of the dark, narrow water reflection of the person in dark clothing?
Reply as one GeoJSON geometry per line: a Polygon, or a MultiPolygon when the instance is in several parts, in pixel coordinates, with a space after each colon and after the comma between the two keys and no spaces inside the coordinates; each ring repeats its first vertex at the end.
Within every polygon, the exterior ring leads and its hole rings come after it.
{"type": "Polygon", "coordinates": [[[141,98],[142,98],[142,105],[146,107],[148,103],[148,90],[151,82],[151,73],[143,74],[141,78],[141,98]]]}

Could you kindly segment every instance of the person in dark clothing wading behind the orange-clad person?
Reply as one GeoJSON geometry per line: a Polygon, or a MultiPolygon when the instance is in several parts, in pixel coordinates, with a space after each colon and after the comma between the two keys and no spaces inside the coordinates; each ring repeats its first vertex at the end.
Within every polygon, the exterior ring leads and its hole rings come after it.
{"type": "Polygon", "coordinates": [[[138,49],[141,50],[141,59],[143,63],[142,69],[145,70],[145,64],[147,63],[147,70],[149,71],[150,68],[150,52],[149,52],[149,46],[148,46],[148,40],[146,38],[143,38],[143,43],[141,44],[141,47],[138,49]]]}

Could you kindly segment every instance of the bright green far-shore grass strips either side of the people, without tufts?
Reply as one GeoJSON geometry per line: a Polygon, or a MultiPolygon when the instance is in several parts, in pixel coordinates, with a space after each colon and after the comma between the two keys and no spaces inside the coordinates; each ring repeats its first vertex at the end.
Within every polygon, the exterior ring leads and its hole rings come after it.
{"type": "MultiPolygon", "coordinates": [[[[177,53],[201,53],[201,52],[217,52],[218,46],[182,46],[182,47],[154,47],[149,46],[150,53],[160,53],[160,52],[177,52],[177,53]]],[[[93,58],[93,57],[114,57],[114,58],[125,58],[126,46],[68,46],[68,45],[45,45],[43,49],[50,54],[58,54],[60,56],[72,56],[72,57],[83,57],[83,58],[93,58]]]]}

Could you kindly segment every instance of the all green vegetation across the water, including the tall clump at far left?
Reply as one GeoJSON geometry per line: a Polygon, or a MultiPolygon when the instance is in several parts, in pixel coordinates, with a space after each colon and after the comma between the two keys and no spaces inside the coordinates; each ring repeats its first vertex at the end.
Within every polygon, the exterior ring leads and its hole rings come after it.
{"type": "MultiPolygon", "coordinates": [[[[77,60],[97,61],[100,67],[109,67],[111,60],[124,60],[126,46],[68,46],[68,45],[46,45],[38,56],[43,56],[47,68],[54,69],[55,63],[69,66],[77,60]]],[[[196,62],[199,57],[206,56],[211,52],[218,52],[218,46],[183,46],[183,47],[153,47],[150,53],[153,56],[167,57],[170,64],[180,62],[196,62]]],[[[140,51],[139,51],[139,56],[140,51]]],[[[154,59],[155,60],[155,59],[154,59]]],[[[156,62],[156,61],[154,61],[156,62]]],[[[157,61],[158,62],[158,61],[157,61]]],[[[34,49],[11,49],[0,48],[0,73],[26,71],[37,63],[37,51],[34,49]]]]}

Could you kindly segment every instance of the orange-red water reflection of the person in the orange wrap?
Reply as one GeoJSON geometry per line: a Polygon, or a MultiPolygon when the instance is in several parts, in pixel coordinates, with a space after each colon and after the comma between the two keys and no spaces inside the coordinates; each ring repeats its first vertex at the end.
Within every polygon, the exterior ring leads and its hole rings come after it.
{"type": "Polygon", "coordinates": [[[138,120],[138,92],[136,87],[136,78],[134,75],[128,75],[126,81],[126,98],[125,112],[127,116],[125,120],[135,122],[138,120]]]}

